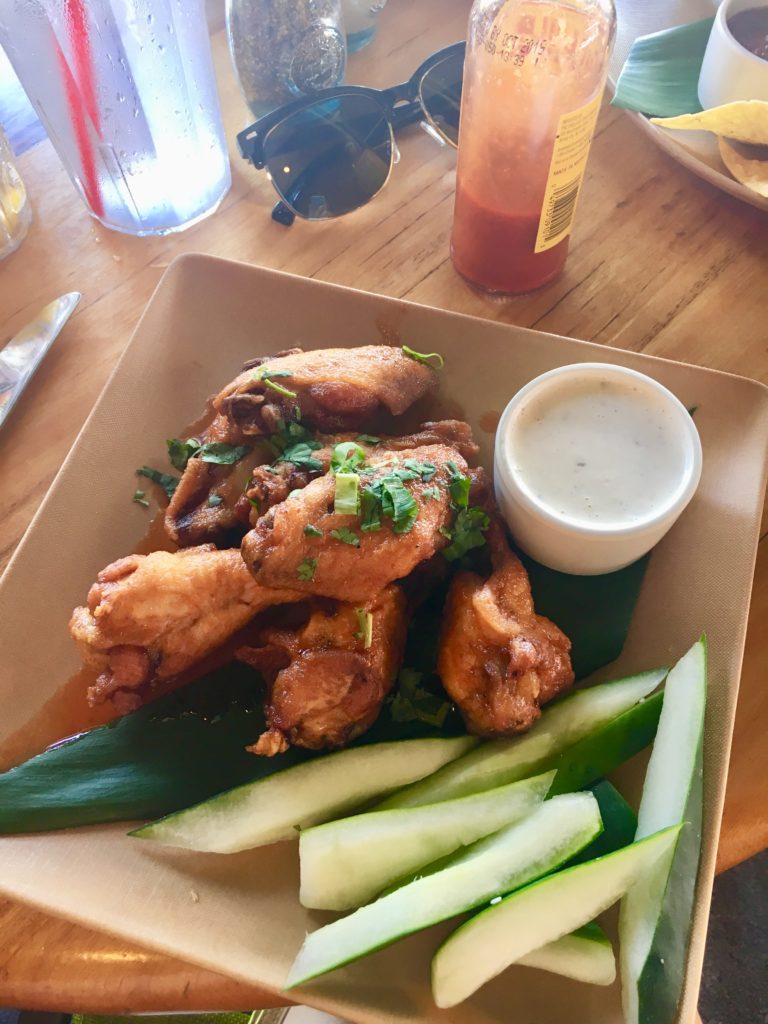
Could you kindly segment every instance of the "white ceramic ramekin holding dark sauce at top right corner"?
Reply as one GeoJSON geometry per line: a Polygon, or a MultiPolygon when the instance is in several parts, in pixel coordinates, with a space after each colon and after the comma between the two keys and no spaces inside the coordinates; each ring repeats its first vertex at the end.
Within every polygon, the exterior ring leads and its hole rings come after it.
{"type": "Polygon", "coordinates": [[[742,46],[728,28],[728,18],[768,0],[723,0],[715,15],[698,77],[701,106],[720,106],[736,99],[768,99],[768,60],[742,46]]]}

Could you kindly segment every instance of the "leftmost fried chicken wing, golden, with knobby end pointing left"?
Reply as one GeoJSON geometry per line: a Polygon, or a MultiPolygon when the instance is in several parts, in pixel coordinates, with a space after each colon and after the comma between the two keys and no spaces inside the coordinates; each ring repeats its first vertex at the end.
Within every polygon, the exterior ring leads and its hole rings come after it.
{"type": "Polygon", "coordinates": [[[237,550],[204,545],[120,558],[98,573],[70,622],[83,660],[100,672],[88,700],[132,711],[152,682],[179,675],[264,608],[301,598],[260,587],[237,550]]]}

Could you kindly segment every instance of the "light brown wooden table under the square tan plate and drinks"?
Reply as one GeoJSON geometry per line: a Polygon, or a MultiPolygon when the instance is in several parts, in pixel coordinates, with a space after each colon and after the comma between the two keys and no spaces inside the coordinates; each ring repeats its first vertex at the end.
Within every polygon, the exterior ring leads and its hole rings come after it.
{"type": "MultiPolygon", "coordinates": [[[[463,37],[468,0],[389,0],[350,80],[407,79],[463,37]],[[439,15],[437,13],[439,9],[439,15]]],[[[248,112],[214,36],[226,133],[248,112]]],[[[323,281],[715,367],[768,382],[768,218],[679,167],[620,111],[602,112],[564,275],[535,294],[489,299],[449,259],[455,154],[418,129],[364,210],[330,223],[269,218],[263,174],[232,151],[233,184],[215,216],[175,237],[133,239],[91,220],[50,144],[18,161],[35,209],[29,238],[0,269],[0,338],[62,292],[82,302],[0,436],[0,567],[130,338],[163,270],[203,251],[323,281]]],[[[87,502],[83,514],[87,514],[87,502]]],[[[719,868],[768,846],[768,540],[758,556],[719,868]],[[762,626],[761,626],[762,624],[762,626]]],[[[263,996],[230,979],[0,900],[0,1005],[120,1012],[246,1009],[263,996]]],[[[274,1000],[272,1000],[274,1001],[274,1000]]]]}

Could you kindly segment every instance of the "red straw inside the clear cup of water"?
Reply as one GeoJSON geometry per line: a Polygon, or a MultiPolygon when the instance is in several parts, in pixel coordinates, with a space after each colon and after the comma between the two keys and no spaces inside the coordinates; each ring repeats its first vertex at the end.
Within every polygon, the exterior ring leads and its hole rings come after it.
{"type": "Polygon", "coordinates": [[[96,130],[96,134],[100,137],[101,129],[99,125],[98,103],[96,102],[93,60],[83,0],[65,0],[65,14],[77,80],[58,43],[55,44],[56,58],[65,82],[67,103],[70,109],[73,128],[75,129],[75,141],[80,154],[85,198],[88,200],[88,205],[96,216],[102,217],[104,207],[98,187],[96,159],[86,120],[87,115],[96,130]]]}

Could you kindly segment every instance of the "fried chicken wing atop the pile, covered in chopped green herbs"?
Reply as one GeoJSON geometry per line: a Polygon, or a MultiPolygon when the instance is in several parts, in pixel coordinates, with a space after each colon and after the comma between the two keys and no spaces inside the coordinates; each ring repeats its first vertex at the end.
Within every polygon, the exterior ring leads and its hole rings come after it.
{"type": "Polygon", "coordinates": [[[410,528],[396,532],[392,518],[382,516],[378,529],[364,530],[359,516],[334,512],[336,478],[329,473],[270,509],[246,536],[243,557],[256,582],[364,604],[431,558],[447,544],[450,486],[467,464],[442,444],[377,452],[360,477],[364,497],[409,461],[434,470],[429,479],[416,474],[401,482],[417,513],[410,528]]]}

